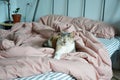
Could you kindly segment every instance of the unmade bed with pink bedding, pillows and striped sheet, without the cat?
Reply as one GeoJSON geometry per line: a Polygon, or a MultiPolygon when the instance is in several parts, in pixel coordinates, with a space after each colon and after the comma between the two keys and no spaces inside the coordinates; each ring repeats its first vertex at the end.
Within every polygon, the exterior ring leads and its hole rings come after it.
{"type": "Polygon", "coordinates": [[[110,55],[115,50],[109,54],[102,40],[113,40],[115,30],[111,25],[83,17],[48,15],[38,22],[16,23],[0,33],[0,79],[110,80],[112,77],[110,55]],[[57,60],[53,58],[55,49],[42,44],[59,32],[74,32],[76,52],[63,54],[57,60]]]}

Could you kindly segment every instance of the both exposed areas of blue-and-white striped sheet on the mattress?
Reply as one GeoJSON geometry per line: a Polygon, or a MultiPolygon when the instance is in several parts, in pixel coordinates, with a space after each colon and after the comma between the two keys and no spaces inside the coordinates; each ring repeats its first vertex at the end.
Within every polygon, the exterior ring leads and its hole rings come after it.
{"type": "MultiPolygon", "coordinates": [[[[103,43],[103,45],[106,47],[108,50],[108,53],[110,57],[113,55],[113,53],[118,50],[120,46],[120,37],[114,37],[111,39],[104,39],[104,38],[98,38],[100,42],[103,43]]],[[[30,77],[23,77],[23,78],[17,78],[14,80],[76,80],[74,77],[64,74],[64,73],[59,73],[59,72],[47,72],[44,74],[38,74],[30,77]]]]}

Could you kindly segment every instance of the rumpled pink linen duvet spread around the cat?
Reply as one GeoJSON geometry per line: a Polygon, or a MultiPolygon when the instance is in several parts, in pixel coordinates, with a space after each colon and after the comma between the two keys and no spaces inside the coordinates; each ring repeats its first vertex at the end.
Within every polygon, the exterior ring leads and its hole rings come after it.
{"type": "Polygon", "coordinates": [[[40,22],[15,24],[7,37],[2,36],[0,79],[8,80],[56,71],[70,74],[77,80],[110,80],[112,69],[107,50],[91,32],[78,30],[76,27],[66,24],[49,26],[40,22]],[[42,47],[42,43],[59,31],[75,33],[77,52],[66,53],[61,60],[56,60],[52,58],[55,50],[42,47]],[[2,44],[5,40],[9,47],[2,44]]]}

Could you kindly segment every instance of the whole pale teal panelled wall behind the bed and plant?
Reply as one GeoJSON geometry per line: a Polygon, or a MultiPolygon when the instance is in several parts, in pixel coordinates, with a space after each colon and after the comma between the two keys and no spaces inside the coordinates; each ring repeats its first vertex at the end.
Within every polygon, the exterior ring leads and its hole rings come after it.
{"type": "MultiPolygon", "coordinates": [[[[20,13],[22,14],[21,21],[31,22],[33,19],[36,1],[37,0],[11,0],[11,14],[16,7],[20,7],[20,13]]],[[[84,0],[69,0],[68,16],[83,16],[83,1],[84,0]]],[[[102,3],[103,0],[86,0],[85,17],[94,20],[101,20],[102,3]]],[[[6,8],[6,4],[0,2],[0,22],[7,19],[6,8]]],[[[40,0],[35,21],[39,20],[41,16],[49,15],[52,13],[67,15],[66,10],[67,0],[40,0]]],[[[120,24],[120,0],[106,0],[104,21],[111,24],[120,24]]]]}

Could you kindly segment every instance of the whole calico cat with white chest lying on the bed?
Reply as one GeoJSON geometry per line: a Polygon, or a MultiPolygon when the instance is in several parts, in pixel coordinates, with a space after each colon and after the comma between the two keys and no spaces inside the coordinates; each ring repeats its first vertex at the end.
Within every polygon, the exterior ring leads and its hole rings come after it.
{"type": "Polygon", "coordinates": [[[62,54],[75,52],[74,35],[73,33],[61,32],[50,37],[43,46],[54,48],[54,58],[60,59],[62,54]]]}

